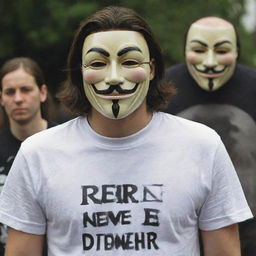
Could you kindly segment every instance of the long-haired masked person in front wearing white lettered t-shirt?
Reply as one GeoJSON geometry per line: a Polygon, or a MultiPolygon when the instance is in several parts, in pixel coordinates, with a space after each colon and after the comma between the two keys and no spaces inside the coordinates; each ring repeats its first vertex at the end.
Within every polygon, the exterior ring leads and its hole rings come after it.
{"type": "Polygon", "coordinates": [[[239,256],[252,217],[212,129],[161,112],[159,44],[136,12],[107,7],[81,24],[60,97],[79,117],[28,138],[0,195],[6,256],[239,256]]]}

